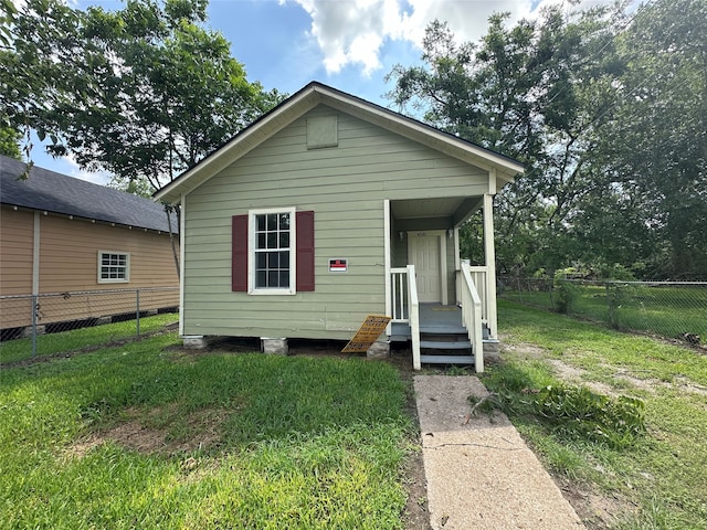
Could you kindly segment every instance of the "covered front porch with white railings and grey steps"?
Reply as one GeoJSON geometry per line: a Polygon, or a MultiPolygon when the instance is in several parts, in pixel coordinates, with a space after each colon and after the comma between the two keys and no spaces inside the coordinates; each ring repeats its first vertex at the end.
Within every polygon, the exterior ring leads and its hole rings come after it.
{"type": "Polygon", "coordinates": [[[474,364],[497,342],[493,197],[386,201],[386,310],[391,341],[410,341],[413,368],[474,364]],[[460,227],[483,213],[483,264],[461,258],[460,227]]]}

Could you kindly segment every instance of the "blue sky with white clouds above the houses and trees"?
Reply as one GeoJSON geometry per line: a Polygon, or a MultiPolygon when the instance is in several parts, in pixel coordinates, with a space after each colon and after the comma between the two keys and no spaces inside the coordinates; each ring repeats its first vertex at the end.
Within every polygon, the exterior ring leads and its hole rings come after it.
{"type": "MultiPolygon", "coordinates": [[[[584,0],[580,8],[606,0],[584,0]]],[[[78,9],[122,9],[116,0],[68,0],[78,9]]],[[[210,0],[207,28],[230,42],[250,82],[294,94],[312,81],[389,107],[386,75],[393,66],[420,63],[422,39],[433,20],[447,22],[456,39],[478,41],[494,12],[509,24],[534,18],[562,0],[210,0]]],[[[570,8],[568,7],[568,10],[570,8]]],[[[574,8],[577,9],[577,8],[574,8]]],[[[36,144],[36,142],[35,142],[36,144]]],[[[43,168],[104,184],[108,176],[82,171],[71,159],[54,159],[40,146],[43,168]]]]}

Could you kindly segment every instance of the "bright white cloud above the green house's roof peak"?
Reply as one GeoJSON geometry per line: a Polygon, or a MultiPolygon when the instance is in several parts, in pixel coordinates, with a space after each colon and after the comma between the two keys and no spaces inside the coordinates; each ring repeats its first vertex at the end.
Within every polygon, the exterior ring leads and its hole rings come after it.
{"type": "Polygon", "coordinates": [[[447,22],[458,41],[477,41],[486,32],[488,17],[495,12],[510,12],[509,23],[514,23],[532,17],[544,6],[566,3],[562,0],[291,1],[312,18],[309,36],[324,55],[327,73],[336,74],[355,64],[361,66],[366,76],[382,66],[379,54],[387,41],[404,40],[421,47],[424,30],[435,19],[447,22]]]}

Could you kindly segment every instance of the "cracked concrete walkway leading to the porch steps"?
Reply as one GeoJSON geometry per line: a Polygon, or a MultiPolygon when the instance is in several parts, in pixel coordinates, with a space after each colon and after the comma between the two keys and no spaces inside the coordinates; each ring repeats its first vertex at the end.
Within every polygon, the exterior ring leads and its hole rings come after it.
{"type": "Polygon", "coordinates": [[[475,377],[415,375],[433,530],[583,529],[557,485],[503,414],[469,417],[475,377]]]}

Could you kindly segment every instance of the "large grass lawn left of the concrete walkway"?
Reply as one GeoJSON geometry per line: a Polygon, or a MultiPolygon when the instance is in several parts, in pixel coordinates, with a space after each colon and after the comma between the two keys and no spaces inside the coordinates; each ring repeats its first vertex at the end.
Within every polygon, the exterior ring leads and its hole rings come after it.
{"type": "Polygon", "coordinates": [[[393,367],[176,340],[2,370],[0,528],[403,528],[393,367]]]}

